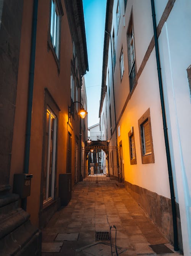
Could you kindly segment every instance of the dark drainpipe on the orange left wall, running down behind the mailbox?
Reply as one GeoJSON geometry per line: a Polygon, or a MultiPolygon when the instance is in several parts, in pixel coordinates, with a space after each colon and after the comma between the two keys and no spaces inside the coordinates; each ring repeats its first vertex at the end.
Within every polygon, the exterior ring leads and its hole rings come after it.
{"type": "MultiPolygon", "coordinates": [[[[38,10],[38,0],[34,0],[33,15],[32,15],[31,56],[30,56],[30,69],[29,69],[29,91],[28,91],[28,111],[27,111],[26,141],[25,141],[25,154],[24,154],[24,173],[29,173],[32,98],[33,98],[34,65],[35,65],[35,51],[36,51],[37,10],[38,10]]],[[[23,198],[23,200],[21,200],[21,205],[22,205],[22,208],[26,210],[27,198],[23,198]]]]}

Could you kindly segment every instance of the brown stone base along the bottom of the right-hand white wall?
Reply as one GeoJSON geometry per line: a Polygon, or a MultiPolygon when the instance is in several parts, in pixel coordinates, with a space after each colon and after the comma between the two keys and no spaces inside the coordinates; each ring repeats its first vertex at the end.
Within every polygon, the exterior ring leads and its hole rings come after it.
{"type": "MultiPolygon", "coordinates": [[[[142,207],[145,213],[158,226],[160,231],[173,244],[173,221],[172,221],[172,206],[171,199],[158,195],[155,192],[147,190],[146,188],[133,185],[125,181],[126,190],[133,196],[133,198],[142,207]]],[[[181,223],[179,205],[176,203],[177,211],[177,225],[178,225],[178,242],[179,247],[183,250],[181,223]]]]}

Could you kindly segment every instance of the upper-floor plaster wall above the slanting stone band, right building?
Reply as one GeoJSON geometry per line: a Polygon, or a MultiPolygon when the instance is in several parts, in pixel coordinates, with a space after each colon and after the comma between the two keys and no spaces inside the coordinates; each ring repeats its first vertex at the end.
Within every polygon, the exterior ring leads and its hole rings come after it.
{"type": "MultiPolygon", "coordinates": [[[[120,95],[120,101],[116,101],[116,115],[119,116],[123,109],[126,98],[129,94],[129,77],[128,77],[128,52],[127,52],[127,30],[129,25],[129,18],[131,11],[133,13],[133,25],[134,25],[134,43],[135,43],[135,55],[136,55],[136,69],[137,72],[140,68],[144,55],[147,51],[149,43],[153,36],[152,26],[152,13],[151,13],[151,1],[150,0],[128,0],[125,17],[124,15],[124,1],[120,0],[120,24],[117,30],[117,0],[114,0],[113,8],[113,23],[112,23],[112,35],[113,28],[115,31],[115,48],[116,48],[116,66],[114,71],[114,84],[115,84],[115,96],[120,95]],[[125,18],[125,22],[124,22],[125,18]],[[120,54],[123,48],[124,56],[124,74],[121,80],[120,78],[120,54]]],[[[110,53],[109,53],[110,54],[110,53]]]]}

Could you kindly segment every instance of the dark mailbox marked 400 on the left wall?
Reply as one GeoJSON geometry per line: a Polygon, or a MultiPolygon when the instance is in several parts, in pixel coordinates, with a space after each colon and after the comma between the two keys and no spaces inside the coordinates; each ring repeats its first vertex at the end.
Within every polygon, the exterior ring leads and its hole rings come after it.
{"type": "Polygon", "coordinates": [[[32,174],[28,173],[14,174],[13,193],[18,194],[20,198],[31,195],[31,178],[32,174]]]}

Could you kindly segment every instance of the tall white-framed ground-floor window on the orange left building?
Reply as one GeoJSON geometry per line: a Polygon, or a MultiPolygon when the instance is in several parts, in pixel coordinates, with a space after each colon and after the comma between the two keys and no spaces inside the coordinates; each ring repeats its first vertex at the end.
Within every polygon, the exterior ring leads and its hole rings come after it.
{"type": "Polygon", "coordinates": [[[57,117],[47,107],[45,121],[43,203],[54,198],[57,117]]]}

